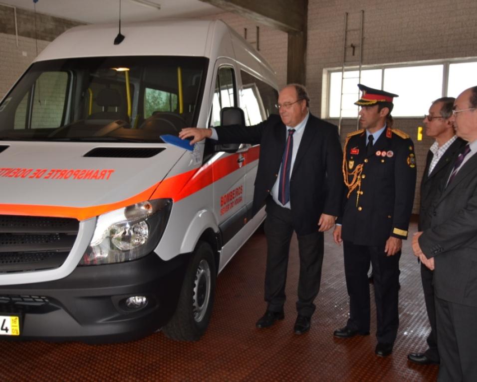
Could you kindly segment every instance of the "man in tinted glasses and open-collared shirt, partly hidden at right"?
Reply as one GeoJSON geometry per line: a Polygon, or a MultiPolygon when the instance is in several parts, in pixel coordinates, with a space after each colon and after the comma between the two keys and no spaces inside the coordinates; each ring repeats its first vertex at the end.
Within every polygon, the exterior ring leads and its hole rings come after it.
{"type": "MultiPolygon", "coordinates": [[[[433,137],[433,143],[427,153],[426,168],[421,181],[421,208],[419,211],[418,230],[424,231],[431,225],[432,203],[439,196],[441,183],[445,178],[452,158],[456,151],[465,145],[465,141],[456,136],[454,125],[450,118],[454,107],[453,97],[443,97],[435,100],[429,108],[429,114],[424,116],[426,135],[433,137]]],[[[446,178],[447,181],[447,178],[446,178]]],[[[437,348],[436,308],[434,305],[433,271],[421,263],[421,279],[426,302],[427,315],[431,324],[431,332],[427,338],[429,349],[424,353],[411,353],[408,359],[421,365],[439,364],[437,348]]]]}

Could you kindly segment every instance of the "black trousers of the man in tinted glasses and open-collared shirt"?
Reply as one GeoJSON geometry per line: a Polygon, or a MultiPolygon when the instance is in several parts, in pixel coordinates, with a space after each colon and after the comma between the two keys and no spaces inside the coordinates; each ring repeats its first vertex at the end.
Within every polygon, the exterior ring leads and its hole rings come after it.
{"type": "Polygon", "coordinates": [[[426,302],[427,316],[431,324],[431,333],[427,337],[429,349],[424,353],[427,358],[439,362],[439,351],[437,349],[437,331],[436,331],[436,304],[434,302],[434,287],[432,285],[434,272],[421,264],[422,289],[424,291],[424,301],[426,302]]]}

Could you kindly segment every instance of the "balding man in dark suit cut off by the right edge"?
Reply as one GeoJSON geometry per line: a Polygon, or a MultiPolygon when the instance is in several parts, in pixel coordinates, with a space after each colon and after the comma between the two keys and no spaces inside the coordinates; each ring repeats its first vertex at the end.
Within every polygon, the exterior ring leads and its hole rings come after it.
{"type": "Polygon", "coordinates": [[[438,381],[477,381],[477,86],[457,97],[451,121],[468,143],[449,166],[430,227],[415,234],[413,250],[434,270],[438,381]]]}

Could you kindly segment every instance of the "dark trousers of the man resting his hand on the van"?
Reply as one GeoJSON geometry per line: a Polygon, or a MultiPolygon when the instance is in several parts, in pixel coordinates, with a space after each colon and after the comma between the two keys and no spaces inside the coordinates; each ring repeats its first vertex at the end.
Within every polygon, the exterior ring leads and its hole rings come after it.
{"type": "MultiPolygon", "coordinates": [[[[294,228],[291,211],[278,206],[271,198],[266,204],[265,236],[267,258],[265,271],[265,301],[272,312],[283,310],[285,303],[285,283],[288,268],[290,241],[294,228]]],[[[317,222],[318,223],[318,222],[317,222]]],[[[298,235],[300,257],[300,276],[298,279],[298,301],[296,310],[299,315],[311,317],[315,311],[314,299],[318,295],[323,264],[323,233],[298,235]]]]}

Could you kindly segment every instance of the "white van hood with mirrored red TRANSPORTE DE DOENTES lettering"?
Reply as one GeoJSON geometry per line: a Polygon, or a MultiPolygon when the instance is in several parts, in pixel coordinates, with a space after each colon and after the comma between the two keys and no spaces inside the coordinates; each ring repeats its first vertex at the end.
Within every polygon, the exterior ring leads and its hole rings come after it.
{"type": "Polygon", "coordinates": [[[147,200],[185,152],[161,143],[2,141],[0,214],[147,200]]]}

